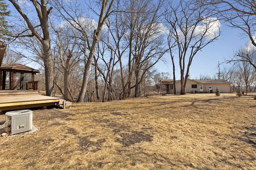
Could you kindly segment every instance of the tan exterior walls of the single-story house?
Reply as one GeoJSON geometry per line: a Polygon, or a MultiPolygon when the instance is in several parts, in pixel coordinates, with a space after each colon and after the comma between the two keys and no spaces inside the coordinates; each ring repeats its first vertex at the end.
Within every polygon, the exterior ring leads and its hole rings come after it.
{"type": "MultiPolygon", "coordinates": [[[[220,89],[220,93],[230,93],[230,84],[203,84],[203,91],[209,93],[209,86],[212,86],[212,92],[216,92],[216,88],[220,89]],[[206,86],[206,87],[205,87],[206,86]]],[[[174,94],[174,90],[170,89],[170,84],[168,85],[168,92],[174,94]]],[[[193,80],[188,80],[186,84],[186,93],[192,93],[193,90],[200,92],[200,84],[193,80]],[[192,88],[192,84],[197,84],[197,88],[192,88]]],[[[176,82],[176,93],[180,93],[180,82],[176,82]]]]}

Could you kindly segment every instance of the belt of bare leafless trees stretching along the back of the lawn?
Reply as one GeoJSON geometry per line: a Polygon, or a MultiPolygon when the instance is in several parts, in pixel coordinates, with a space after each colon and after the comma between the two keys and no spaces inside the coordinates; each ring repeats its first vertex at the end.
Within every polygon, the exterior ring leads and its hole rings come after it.
{"type": "Polygon", "coordinates": [[[45,82],[41,86],[48,96],[60,93],[77,102],[85,95],[88,102],[146,96],[160,79],[175,81],[177,70],[185,94],[190,65],[198,51],[218,39],[220,21],[244,31],[253,46],[226,61],[235,67],[226,74],[224,68],[222,78],[255,90],[255,13],[236,8],[236,0],[9,2],[16,9],[9,19],[15,27],[9,27],[5,62],[38,63],[37,78],[45,82]],[[155,69],[159,61],[166,62],[164,55],[172,61],[172,76],[155,69]]]}

